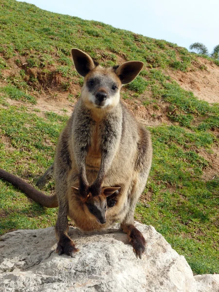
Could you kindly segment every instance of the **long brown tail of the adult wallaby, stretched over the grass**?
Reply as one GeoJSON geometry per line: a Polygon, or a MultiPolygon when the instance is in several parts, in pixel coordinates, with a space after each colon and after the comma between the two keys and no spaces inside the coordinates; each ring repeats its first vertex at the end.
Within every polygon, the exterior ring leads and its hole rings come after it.
{"type": "Polygon", "coordinates": [[[24,194],[26,194],[29,198],[39,203],[43,207],[55,208],[58,206],[57,197],[47,196],[40,191],[37,191],[32,185],[24,182],[20,178],[15,175],[3,170],[0,168],[0,179],[4,179],[5,181],[13,184],[15,187],[20,189],[24,194]]]}

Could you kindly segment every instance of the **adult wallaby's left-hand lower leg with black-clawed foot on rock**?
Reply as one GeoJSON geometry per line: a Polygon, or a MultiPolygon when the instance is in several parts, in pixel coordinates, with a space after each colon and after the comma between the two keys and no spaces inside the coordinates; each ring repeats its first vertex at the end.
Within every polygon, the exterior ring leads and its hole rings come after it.
{"type": "MultiPolygon", "coordinates": [[[[60,202],[59,202],[60,203],[60,202]]],[[[55,224],[55,234],[58,239],[56,253],[58,255],[66,254],[73,257],[73,253],[77,252],[73,240],[68,236],[69,224],[67,219],[67,204],[60,204],[58,210],[58,219],[55,224]]]]}

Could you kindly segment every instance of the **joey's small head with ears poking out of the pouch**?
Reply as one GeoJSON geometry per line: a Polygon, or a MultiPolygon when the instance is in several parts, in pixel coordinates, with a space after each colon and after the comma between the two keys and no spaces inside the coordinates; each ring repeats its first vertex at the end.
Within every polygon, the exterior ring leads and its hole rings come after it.
{"type": "Polygon", "coordinates": [[[107,222],[107,198],[116,192],[118,193],[119,189],[120,187],[103,187],[101,195],[91,196],[91,193],[89,193],[86,198],[82,198],[79,195],[78,188],[72,187],[73,193],[79,196],[82,201],[85,213],[89,217],[95,218],[100,224],[105,224],[107,222]]]}

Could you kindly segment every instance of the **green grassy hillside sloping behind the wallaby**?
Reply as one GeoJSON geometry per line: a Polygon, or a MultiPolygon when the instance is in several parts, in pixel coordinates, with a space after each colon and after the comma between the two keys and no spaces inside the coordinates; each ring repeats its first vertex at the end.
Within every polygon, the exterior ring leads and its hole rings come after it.
{"type": "MultiPolygon", "coordinates": [[[[1,1],[0,30],[0,167],[35,185],[52,164],[83,83],[72,47],[103,65],[141,60],[144,70],[122,91],[129,109],[150,125],[154,147],[136,219],[164,235],[195,274],[219,273],[219,104],[198,100],[170,77],[207,74],[202,58],[164,40],[15,0],[1,1]],[[45,110],[49,105],[53,111],[45,110]]],[[[54,183],[44,191],[53,193],[54,183]]],[[[40,207],[3,181],[0,208],[1,234],[55,225],[56,209],[40,207]]]]}

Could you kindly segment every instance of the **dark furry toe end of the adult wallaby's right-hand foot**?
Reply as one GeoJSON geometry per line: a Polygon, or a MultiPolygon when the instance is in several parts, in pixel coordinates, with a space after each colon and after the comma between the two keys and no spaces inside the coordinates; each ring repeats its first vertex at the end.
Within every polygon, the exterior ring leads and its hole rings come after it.
{"type": "Polygon", "coordinates": [[[136,256],[142,258],[142,255],[145,253],[146,240],[142,233],[137,229],[132,229],[129,235],[133,251],[136,253],[136,256]]]}

